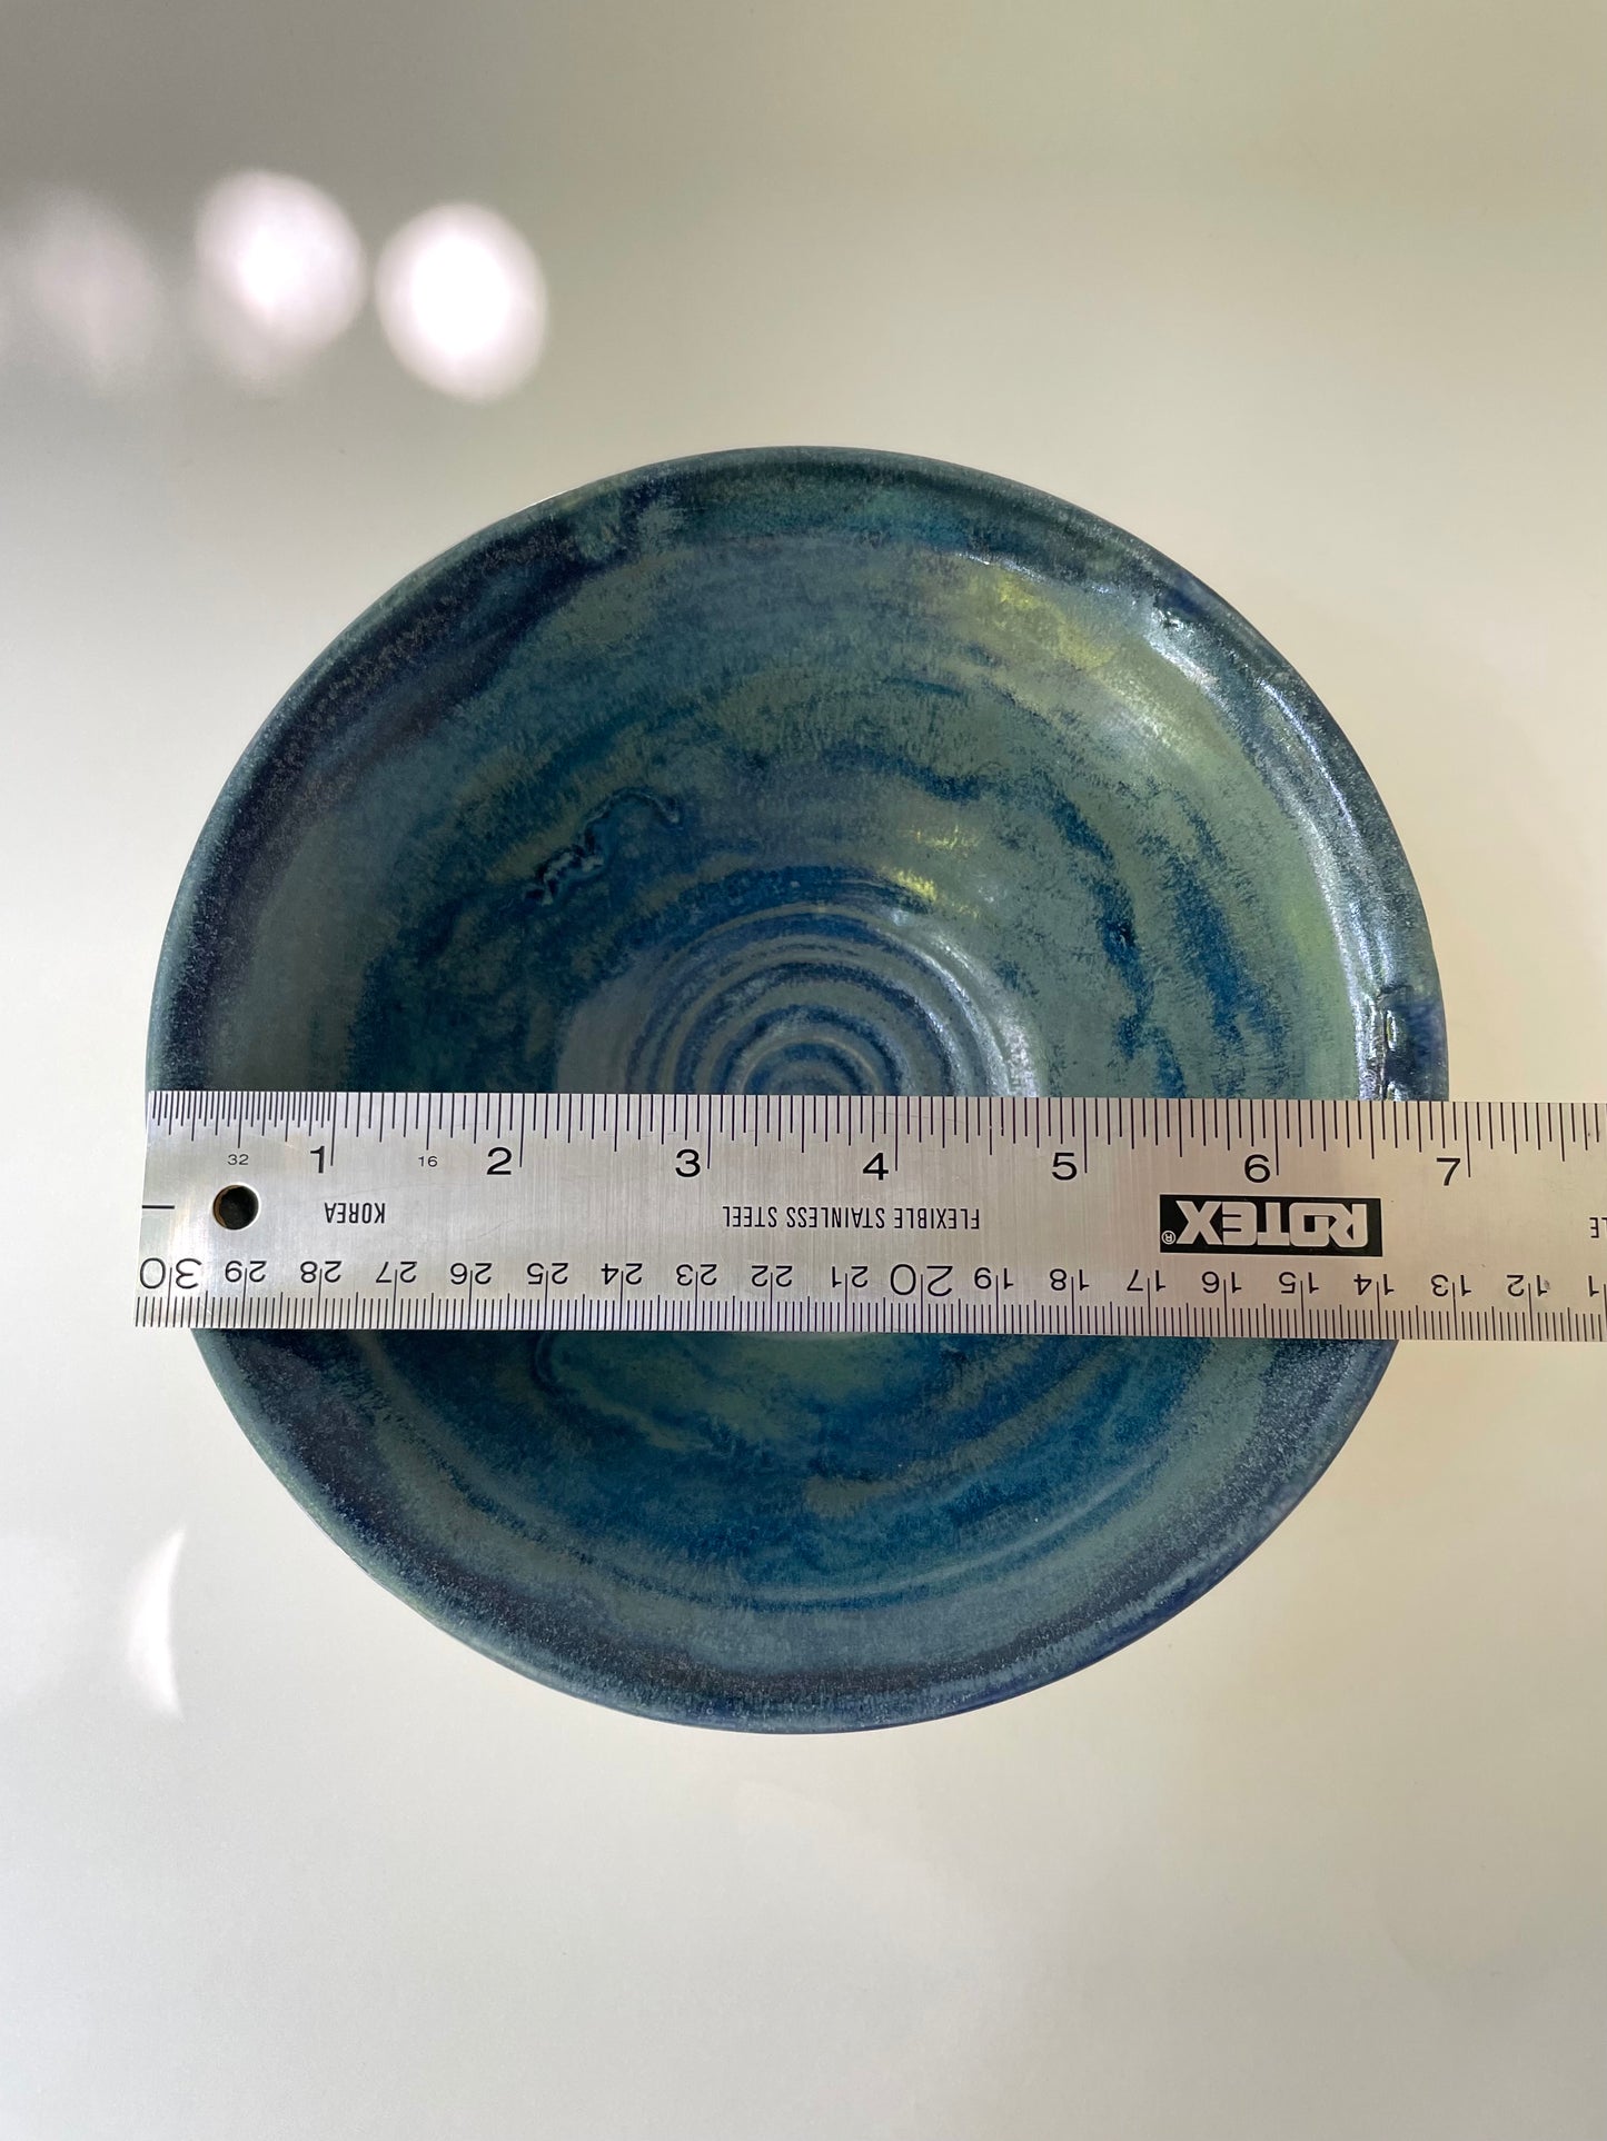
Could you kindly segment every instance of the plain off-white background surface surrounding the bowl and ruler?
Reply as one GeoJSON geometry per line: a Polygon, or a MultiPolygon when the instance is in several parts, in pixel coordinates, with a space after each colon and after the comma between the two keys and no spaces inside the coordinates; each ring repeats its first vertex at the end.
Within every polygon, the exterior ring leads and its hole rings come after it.
{"type": "Polygon", "coordinates": [[[437,1634],[129,1293],[156,948],[257,722],[469,529],[722,445],[1178,557],[1373,773],[1453,1090],[1601,1096],[1605,86],[1566,0],[0,0],[0,2141],[1601,2141],[1594,1353],[1403,1349],[1163,1631],[761,1741],[437,1634]],[[259,165],[371,255],[510,218],[529,381],[439,394],[371,310],[231,377],[189,227],[259,165]],[[88,355],[51,188],[146,263],[88,355]]]}

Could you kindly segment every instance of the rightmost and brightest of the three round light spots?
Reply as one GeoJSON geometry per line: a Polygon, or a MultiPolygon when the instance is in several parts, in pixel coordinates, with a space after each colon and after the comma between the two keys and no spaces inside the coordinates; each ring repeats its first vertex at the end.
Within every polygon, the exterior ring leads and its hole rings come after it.
{"type": "Polygon", "coordinates": [[[396,358],[461,400],[510,394],[536,368],[546,287],[519,231],[489,208],[431,208],[379,255],[375,304],[396,358]]]}

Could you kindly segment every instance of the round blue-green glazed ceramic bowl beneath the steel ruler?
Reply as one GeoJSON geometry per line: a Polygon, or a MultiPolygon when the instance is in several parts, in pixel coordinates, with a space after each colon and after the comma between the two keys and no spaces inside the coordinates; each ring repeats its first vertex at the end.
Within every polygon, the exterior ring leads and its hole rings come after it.
{"type": "MultiPolygon", "coordinates": [[[[461,544],[309,670],[184,878],[150,1079],[1436,1096],[1423,910],[1301,679],[996,477],[761,450],[461,544]]],[[[1376,1345],[210,1334],[441,1627],[759,1730],[1037,1687],[1305,1494],[1376,1345]]]]}

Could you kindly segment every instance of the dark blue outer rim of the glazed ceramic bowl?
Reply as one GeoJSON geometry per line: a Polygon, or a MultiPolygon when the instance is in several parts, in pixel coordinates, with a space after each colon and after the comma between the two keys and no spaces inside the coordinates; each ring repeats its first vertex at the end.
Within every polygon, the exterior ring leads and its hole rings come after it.
{"type": "MultiPolygon", "coordinates": [[[[1082,550],[1097,546],[1112,561],[1121,561],[1129,572],[1148,580],[1151,587],[1163,589],[1168,602],[1181,604],[1191,621],[1206,627],[1215,642],[1232,655],[1241,672],[1253,683],[1256,694],[1266,704],[1266,719],[1283,724],[1320,771],[1313,792],[1326,790],[1337,820],[1348,829],[1346,839],[1350,850],[1365,863],[1363,876],[1367,882],[1361,889],[1365,897],[1356,901],[1358,910],[1367,910],[1369,925],[1388,951],[1395,978],[1401,985],[1410,985],[1418,1002],[1427,1006],[1429,1017],[1423,1032],[1416,1034],[1416,1051],[1408,1053],[1395,1066],[1399,1075],[1393,1081],[1388,1056],[1380,1056],[1376,1066],[1378,1088],[1382,1088],[1380,1096],[1433,1098],[1444,1094],[1440,981],[1416,882],[1382,796],[1343,730],[1305,679],[1226,597],[1217,595],[1187,572],[1187,567],[1176,565],[1166,552],[1101,520],[1097,514],[1088,514],[1052,492],[1037,490],[1011,477],[947,460],[855,445],[729,447],[711,454],[647,462],[604,475],[579,488],[540,499],[469,533],[371,602],[302,672],[257,728],[206,818],[174,901],[156,968],[148,1041],[148,1083],[210,1083],[204,1075],[201,1041],[197,1036],[201,1034],[201,1013],[210,989],[216,985],[221,972],[227,974],[229,906],[240,869],[249,865],[257,839],[272,822],[276,805],[289,794],[302,766],[317,756],[321,741],[319,722],[313,719],[317,709],[339,704],[343,687],[349,685],[358,670],[381,655],[396,638],[399,627],[403,627],[405,649],[409,617],[416,617],[420,608],[429,612],[431,602],[441,602],[444,591],[450,591],[463,576],[495,565],[499,550],[514,550],[519,544],[544,537],[561,544],[574,535],[576,525],[585,525],[587,516],[600,510],[606,516],[621,501],[662,497],[671,488],[686,488],[703,480],[774,484],[789,473],[799,480],[818,480],[823,475],[844,477],[863,486],[896,488],[900,492],[908,492],[911,486],[923,486],[949,501],[968,501],[977,507],[1003,512],[1009,516],[1013,529],[1031,527],[1041,531],[1046,576],[1052,576],[1052,561],[1048,557],[1052,537],[1082,550]]],[[[611,563],[613,559],[600,557],[594,570],[606,572],[611,563]]],[[[1358,1062],[1358,1090],[1367,1090],[1369,1075],[1369,1066],[1358,1062]]],[[[1326,1432],[1318,1437],[1320,1449],[1313,1462],[1301,1471],[1298,1482],[1290,1486],[1271,1522],[1258,1524],[1247,1542],[1228,1542],[1226,1550],[1215,1559],[1206,1557],[1204,1565],[1196,1563],[1191,1569],[1181,1571],[1176,1584],[1155,1610],[1131,1614],[1127,1616],[1127,1625],[1106,1629],[1106,1638],[1093,1649],[1071,1642],[1054,1642],[1037,1649],[1024,1644],[1018,1655],[986,1676],[986,1685],[960,1687],[953,1679],[932,1676],[921,1683],[919,1691],[906,1691],[904,1696],[889,1698],[887,1691],[878,1691],[859,1702],[838,1700],[829,1706],[793,1706],[784,1711],[759,1704],[746,1709],[741,1698],[733,1696],[731,1689],[720,1691],[714,1687],[705,1700],[660,1700],[651,1691],[649,1679],[643,1681],[639,1700],[632,1700],[630,1694],[621,1694],[615,1679],[589,1674],[583,1659],[572,1659],[566,1668],[561,1661],[531,1661],[527,1653],[516,1653],[497,1640],[497,1629],[486,1625],[484,1616],[476,1621],[474,1612],[444,1608],[439,1595],[429,1595],[429,1591],[422,1591],[418,1582],[407,1578],[396,1559],[386,1550],[384,1539],[371,1537],[349,1512],[334,1507],[328,1494],[319,1499],[317,1482],[291,1458],[276,1426],[259,1417],[246,1372],[246,1351],[236,1334],[206,1334],[201,1351],[238,1422],[309,1514],[369,1574],[377,1576],[386,1589],[401,1595],[416,1610],[474,1649],[570,1694],[589,1696],[609,1706],[651,1717],[750,1730],[853,1730],[926,1721],[1003,1700],[1056,1681],[1161,1625],[1230,1574],[1245,1554],[1262,1544],[1288,1509],[1309,1492],[1361,1417],[1388,1364],[1393,1347],[1356,1345],[1350,1360],[1335,1366],[1331,1402],[1324,1404],[1324,1415],[1331,1413],[1333,1417],[1326,1424],[1326,1432]],[[1078,1649],[1086,1651],[1086,1655],[1073,1655],[1078,1649]]]]}

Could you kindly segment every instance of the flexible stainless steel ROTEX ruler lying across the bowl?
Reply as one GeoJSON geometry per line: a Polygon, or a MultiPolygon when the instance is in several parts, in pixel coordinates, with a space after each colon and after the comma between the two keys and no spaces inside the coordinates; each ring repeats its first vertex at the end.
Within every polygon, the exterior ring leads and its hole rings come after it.
{"type": "Polygon", "coordinates": [[[135,1323],[1607,1342],[1607,1105],[165,1090],[135,1323]]]}

